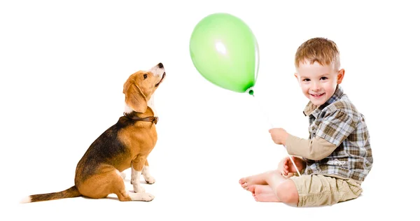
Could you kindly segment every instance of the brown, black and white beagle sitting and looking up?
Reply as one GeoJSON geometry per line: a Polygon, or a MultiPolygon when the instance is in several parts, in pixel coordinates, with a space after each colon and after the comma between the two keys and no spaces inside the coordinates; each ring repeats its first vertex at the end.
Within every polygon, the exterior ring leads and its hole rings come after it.
{"type": "Polygon", "coordinates": [[[62,192],[30,195],[21,203],[81,196],[100,199],[109,194],[116,194],[120,201],[153,200],[153,195],[141,187],[140,176],[143,174],[147,183],[155,183],[148,171],[147,157],[158,141],[153,93],[165,75],[162,63],[133,73],[124,83],[124,116],[87,149],[76,166],[75,185],[62,192]],[[125,189],[123,180],[122,172],[130,167],[134,192],[125,189]]]}

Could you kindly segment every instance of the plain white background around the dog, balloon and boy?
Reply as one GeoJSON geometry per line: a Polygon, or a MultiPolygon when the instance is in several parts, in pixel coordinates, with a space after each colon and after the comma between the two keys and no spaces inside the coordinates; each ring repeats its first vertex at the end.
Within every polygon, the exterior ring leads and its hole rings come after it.
{"type": "MultiPolygon", "coordinates": [[[[283,220],[406,218],[418,204],[419,15],[408,1],[2,1],[1,201],[8,220],[283,220]],[[190,59],[203,17],[240,17],[260,46],[255,97],[216,87],[190,59]],[[320,208],[258,203],[241,177],[276,168],[274,127],[307,138],[307,99],[293,59],[309,38],[332,39],[342,86],[367,120],[373,169],[356,200],[320,208]],[[73,185],[76,164],[124,110],[123,83],[162,62],[151,202],[82,197],[18,204],[73,185]]],[[[130,170],[127,171],[130,178],[130,170]]],[[[127,188],[132,188],[127,182],[127,188]]],[[[130,189],[132,190],[132,189],[130,189]]],[[[112,197],[112,196],[111,196],[112,197]]],[[[3,211],[1,209],[1,211],[3,211]]]]}

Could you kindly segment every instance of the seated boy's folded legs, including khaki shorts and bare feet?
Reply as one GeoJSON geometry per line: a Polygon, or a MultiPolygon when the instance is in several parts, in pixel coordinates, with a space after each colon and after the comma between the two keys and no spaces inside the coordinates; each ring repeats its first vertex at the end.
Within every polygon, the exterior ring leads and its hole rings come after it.
{"type": "Polygon", "coordinates": [[[361,192],[360,182],[319,174],[284,178],[278,171],[256,176],[260,183],[250,185],[256,201],[283,202],[293,206],[325,206],[357,198],[361,192]],[[271,190],[269,190],[269,187],[271,190]],[[271,193],[270,193],[271,191],[271,193]],[[275,198],[274,198],[275,197],[275,198]]]}

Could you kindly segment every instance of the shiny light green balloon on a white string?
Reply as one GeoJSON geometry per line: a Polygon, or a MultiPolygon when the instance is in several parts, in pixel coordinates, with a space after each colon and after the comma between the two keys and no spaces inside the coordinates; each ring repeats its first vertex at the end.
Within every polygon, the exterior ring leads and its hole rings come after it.
{"type": "Polygon", "coordinates": [[[215,13],[204,17],[190,38],[195,69],[214,85],[234,92],[253,93],[258,76],[258,43],[238,17],[215,13]]]}

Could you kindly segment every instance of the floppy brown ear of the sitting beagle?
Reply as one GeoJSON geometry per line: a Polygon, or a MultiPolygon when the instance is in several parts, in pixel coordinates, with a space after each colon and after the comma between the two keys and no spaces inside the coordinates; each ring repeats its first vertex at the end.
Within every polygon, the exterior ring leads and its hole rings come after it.
{"type": "Polygon", "coordinates": [[[125,104],[138,113],[145,113],[147,110],[147,99],[140,87],[133,78],[129,78],[125,84],[123,93],[125,94],[125,104]]]}

